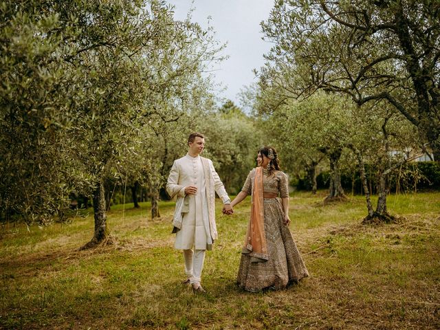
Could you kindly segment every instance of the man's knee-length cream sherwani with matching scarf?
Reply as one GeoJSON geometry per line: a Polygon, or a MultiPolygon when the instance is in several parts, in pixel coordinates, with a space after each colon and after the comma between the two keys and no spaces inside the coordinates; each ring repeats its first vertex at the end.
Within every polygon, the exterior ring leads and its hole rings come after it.
{"type": "Polygon", "coordinates": [[[230,203],[212,161],[188,154],[175,160],[166,190],[171,197],[177,196],[173,219],[173,232],[177,232],[175,248],[210,250],[214,239],[217,239],[215,192],[223,203],[230,203]],[[197,193],[185,195],[186,186],[197,186],[197,193]]]}

